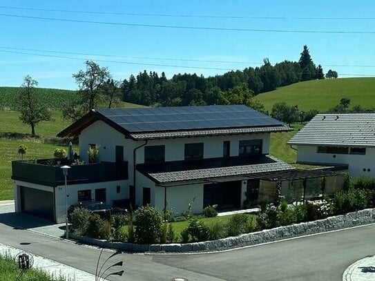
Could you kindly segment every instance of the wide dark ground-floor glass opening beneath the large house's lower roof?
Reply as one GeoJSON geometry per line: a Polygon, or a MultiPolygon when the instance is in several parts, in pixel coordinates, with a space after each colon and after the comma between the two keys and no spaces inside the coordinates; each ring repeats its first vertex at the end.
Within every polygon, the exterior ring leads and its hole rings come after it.
{"type": "Polygon", "coordinates": [[[204,184],[203,207],[218,205],[218,210],[240,209],[241,181],[204,184]]]}

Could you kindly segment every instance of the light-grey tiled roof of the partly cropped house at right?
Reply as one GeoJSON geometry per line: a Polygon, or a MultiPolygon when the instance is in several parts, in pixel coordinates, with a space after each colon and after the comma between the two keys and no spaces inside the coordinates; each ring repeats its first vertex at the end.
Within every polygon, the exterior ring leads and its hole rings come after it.
{"type": "Polygon", "coordinates": [[[318,114],[288,144],[375,146],[375,113],[318,114]]]}

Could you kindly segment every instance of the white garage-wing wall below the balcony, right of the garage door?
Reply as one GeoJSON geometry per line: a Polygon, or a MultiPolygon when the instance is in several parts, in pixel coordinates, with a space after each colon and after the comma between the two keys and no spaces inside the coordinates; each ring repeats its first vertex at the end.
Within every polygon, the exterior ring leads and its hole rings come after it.
{"type": "MultiPolygon", "coordinates": [[[[28,183],[29,185],[29,183],[28,183]]],[[[95,200],[95,189],[106,188],[106,204],[112,205],[115,199],[124,199],[128,197],[128,181],[119,180],[114,182],[95,182],[90,184],[72,184],[68,185],[68,208],[78,202],[78,191],[90,190],[91,200],[95,200]],[[121,186],[117,193],[117,186],[121,186]]],[[[65,222],[66,204],[65,204],[65,186],[57,186],[55,189],[55,213],[57,223],[65,222]]]]}

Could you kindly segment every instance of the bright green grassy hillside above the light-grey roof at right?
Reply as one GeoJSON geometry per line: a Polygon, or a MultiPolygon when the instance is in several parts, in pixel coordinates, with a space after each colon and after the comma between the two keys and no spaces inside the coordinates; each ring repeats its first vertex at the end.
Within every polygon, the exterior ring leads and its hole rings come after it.
{"type": "Polygon", "coordinates": [[[336,106],[343,97],[350,99],[350,106],[360,104],[363,108],[375,108],[375,78],[305,81],[257,96],[269,112],[273,104],[280,101],[288,105],[298,104],[300,110],[325,112],[336,106]]]}

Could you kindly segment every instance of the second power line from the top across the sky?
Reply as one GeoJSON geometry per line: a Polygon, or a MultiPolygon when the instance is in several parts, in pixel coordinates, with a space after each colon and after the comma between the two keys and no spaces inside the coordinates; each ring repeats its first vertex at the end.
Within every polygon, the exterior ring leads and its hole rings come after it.
{"type": "Polygon", "coordinates": [[[172,28],[172,29],[187,29],[187,30],[221,30],[221,31],[242,31],[242,32],[278,32],[278,33],[322,33],[322,34],[368,34],[374,35],[375,31],[339,31],[339,30],[281,30],[281,29],[258,29],[258,28],[210,28],[202,26],[169,26],[160,24],[143,24],[143,23],[119,23],[111,21],[86,21],[81,19],[59,19],[52,17],[31,17],[22,16],[19,14],[0,14],[3,17],[17,17],[23,19],[42,19],[46,21],[64,21],[64,22],[76,22],[76,23],[94,23],[104,24],[111,26],[137,26],[145,28],[172,28]]]}

